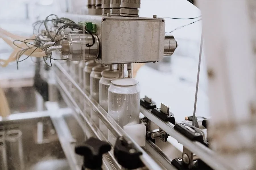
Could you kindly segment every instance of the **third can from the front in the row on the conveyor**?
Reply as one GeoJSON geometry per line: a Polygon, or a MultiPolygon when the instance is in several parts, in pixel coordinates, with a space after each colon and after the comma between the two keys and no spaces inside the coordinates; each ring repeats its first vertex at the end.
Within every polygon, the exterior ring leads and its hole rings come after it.
{"type": "MultiPolygon", "coordinates": [[[[104,65],[95,66],[92,68],[92,73],[90,74],[90,96],[98,103],[101,72],[106,69],[108,69],[108,67],[104,65]]],[[[99,118],[93,109],[91,109],[91,119],[99,126],[99,118]]]]}

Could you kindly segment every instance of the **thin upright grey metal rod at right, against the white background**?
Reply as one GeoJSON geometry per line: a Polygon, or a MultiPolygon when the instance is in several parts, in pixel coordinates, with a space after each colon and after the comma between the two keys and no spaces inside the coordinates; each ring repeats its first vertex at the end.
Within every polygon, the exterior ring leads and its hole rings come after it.
{"type": "Polygon", "coordinates": [[[197,93],[198,93],[200,66],[201,66],[201,58],[202,58],[202,49],[203,49],[203,31],[201,33],[201,42],[200,42],[200,51],[199,51],[198,69],[197,69],[197,84],[196,84],[196,91],[195,91],[195,103],[194,103],[192,126],[195,126],[195,112],[196,112],[196,108],[197,108],[197,93]]]}

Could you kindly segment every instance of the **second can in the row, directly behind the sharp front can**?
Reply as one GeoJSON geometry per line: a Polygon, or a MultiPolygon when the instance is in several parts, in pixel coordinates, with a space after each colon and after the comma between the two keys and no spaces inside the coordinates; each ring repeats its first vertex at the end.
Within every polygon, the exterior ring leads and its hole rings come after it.
{"type": "MultiPolygon", "coordinates": [[[[111,66],[112,67],[112,66],[111,66]]],[[[111,81],[114,78],[119,77],[119,70],[113,70],[112,68],[106,69],[101,72],[100,78],[100,96],[99,96],[99,104],[103,107],[105,111],[108,112],[108,88],[111,85],[111,81]]],[[[99,128],[106,137],[108,137],[108,128],[106,125],[100,120],[99,128]]]]}

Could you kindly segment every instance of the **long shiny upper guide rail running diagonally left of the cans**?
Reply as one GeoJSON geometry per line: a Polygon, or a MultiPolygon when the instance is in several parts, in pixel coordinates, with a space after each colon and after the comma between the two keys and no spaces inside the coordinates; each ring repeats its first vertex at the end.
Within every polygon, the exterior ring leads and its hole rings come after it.
{"type": "MultiPolygon", "coordinates": [[[[73,78],[67,73],[67,71],[60,65],[60,63],[55,63],[57,68],[66,76],[66,78],[69,79],[69,81],[77,88],[82,95],[84,95],[84,98],[88,101],[88,103],[93,107],[96,111],[96,114],[102,120],[102,122],[108,127],[108,129],[115,135],[115,137],[123,136],[129,139],[131,143],[134,144],[135,148],[142,152],[142,155],[140,156],[141,161],[148,167],[150,170],[155,170],[155,169],[161,169],[161,167],[152,159],[133,139],[131,139],[127,133],[113,120],[109,114],[104,111],[104,109],[94,100],[94,99],[89,99],[88,94],[84,93],[83,90],[76,84],[76,82],[73,80],[73,78]],[[102,112],[100,112],[99,108],[100,107],[102,112]]],[[[56,73],[56,72],[55,72],[56,73]]],[[[56,74],[56,80],[59,83],[61,80],[57,77],[56,74]]],[[[63,85],[61,88],[64,88],[65,86],[63,85]]],[[[66,89],[66,88],[65,88],[66,89]]],[[[72,96],[71,96],[72,97],[72,96]]],[[[77,106],[78,107],[78,106],[77,106]]],[[[80,110],[80,109],[79,109],[80,110]]],[[[81,116],[85,119],[86,117],[82,114],[81,111],[81,116]]],[[[87,120],[87,119],[85,119],[87,120]]]]}

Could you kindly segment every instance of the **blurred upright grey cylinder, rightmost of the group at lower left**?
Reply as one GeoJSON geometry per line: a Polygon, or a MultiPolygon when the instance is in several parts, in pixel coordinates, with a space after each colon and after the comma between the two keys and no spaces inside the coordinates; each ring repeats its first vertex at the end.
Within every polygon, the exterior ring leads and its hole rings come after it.
{"type": "Polygon", "coordinates": [[[20,130],[7,131],[5,136],[5,144],[8,150],[7,157],[9,168],[25,170],[22,147],[22,132],[20,130]]]}

